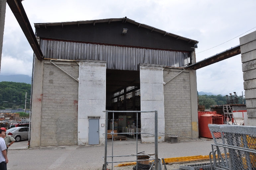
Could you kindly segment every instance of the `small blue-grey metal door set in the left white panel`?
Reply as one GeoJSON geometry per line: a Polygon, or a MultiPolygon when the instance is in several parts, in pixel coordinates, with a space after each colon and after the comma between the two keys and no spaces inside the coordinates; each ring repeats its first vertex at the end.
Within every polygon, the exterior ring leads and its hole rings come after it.
{"type": "Polygon", "coordinates": [[[89,119],[89,145],[98,145],[99,140],[99,119],[89,119]]]}

